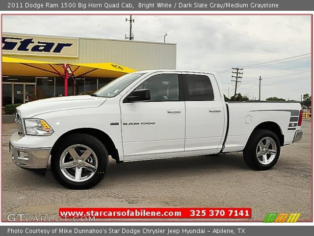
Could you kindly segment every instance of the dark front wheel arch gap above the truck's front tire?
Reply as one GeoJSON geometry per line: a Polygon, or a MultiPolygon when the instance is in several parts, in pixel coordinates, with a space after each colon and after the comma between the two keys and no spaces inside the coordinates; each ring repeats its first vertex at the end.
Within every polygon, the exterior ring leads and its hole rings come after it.
{"type": "Polygon", "coordinates": [[[52,146],[51,155],[53,156],[53,153],[55,152],[59,143],[61,143],[67,136],[71,134],[81,134],[81,133],[90,134],[98,138],[107,148],[108,154],[111,155],[112,158],[115,159],[116,161],[120,160],[118,149],[116,148],[110,136],[106,134],[104,131],[96,129],[96,128],[78,128],[78,129],[67,131],[66,133],[62,134],[54,143],[54,145],[52,146]]]}

